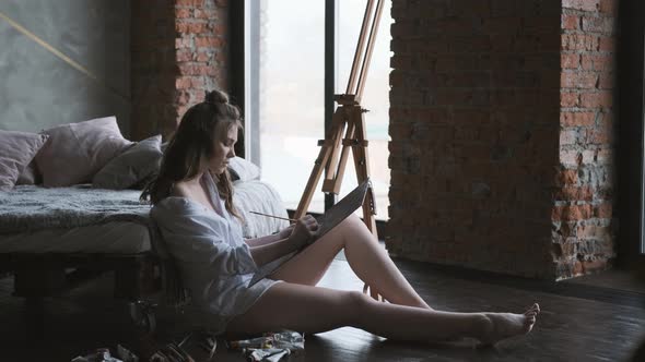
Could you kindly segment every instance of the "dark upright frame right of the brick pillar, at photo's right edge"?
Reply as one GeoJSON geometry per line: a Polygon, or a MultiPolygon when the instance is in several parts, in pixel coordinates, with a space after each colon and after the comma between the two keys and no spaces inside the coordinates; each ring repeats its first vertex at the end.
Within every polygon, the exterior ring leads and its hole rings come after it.
{"type": "Polygon", "coordinates": [[[645,262],[645,3],[621,3],[619,23],[617,263],[631,268],[645,262]]]}

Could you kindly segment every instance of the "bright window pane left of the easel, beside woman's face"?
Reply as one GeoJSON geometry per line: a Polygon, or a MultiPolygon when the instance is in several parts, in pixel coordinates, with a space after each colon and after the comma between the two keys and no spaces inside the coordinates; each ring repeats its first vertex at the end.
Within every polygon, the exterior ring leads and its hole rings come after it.
{"type": "MultiPolygon", "coordinates": [[[[262,179],[295,209],[325,135],[325,1],[261,0],[259,32],[262,179]]],[[[324,198],[318,185],[309,212],[324,198]]]]}

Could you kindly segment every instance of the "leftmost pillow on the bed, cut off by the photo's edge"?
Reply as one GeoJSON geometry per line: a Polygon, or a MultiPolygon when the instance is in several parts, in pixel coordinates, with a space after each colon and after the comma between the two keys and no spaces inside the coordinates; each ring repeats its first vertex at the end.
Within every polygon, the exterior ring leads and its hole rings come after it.
{"type": "Polygon", "coordinates": [[[0,131],[0,190],[13,189],[47,138],[46,134],[0,131]]]}

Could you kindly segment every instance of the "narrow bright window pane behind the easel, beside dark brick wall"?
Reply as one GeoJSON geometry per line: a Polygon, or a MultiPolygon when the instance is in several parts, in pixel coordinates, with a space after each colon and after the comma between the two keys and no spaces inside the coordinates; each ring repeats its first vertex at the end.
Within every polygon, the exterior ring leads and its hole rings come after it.
{"type": "MultiPolygon", "coordinates": [[[[376,1],[375,1],[376,4],[376,1]]],[[[338,35],[338,81],[337,93],[345,93],[350,76],[356,44],[361,33],[361,24],[365,13],[366,0],[338,1],[339,35],[338,35]]],[[[380,22],[372,53],[372,61],[364,80],[365,89],[361,106],[368,109],[365,113],[365,133],[370,141],[370,171],[376,196],[376,219],[387,220],[389,206],[390,172],[388,167],[388,134],[389,124],[389,59],[391,51],[390,15],[391,0],[386,0],[380,15],[380,22]]],[[[342,182],[340,196],[348,194],[356,186],[356,173],[353,162],[348,162],[348,169],[342,182]]]]}

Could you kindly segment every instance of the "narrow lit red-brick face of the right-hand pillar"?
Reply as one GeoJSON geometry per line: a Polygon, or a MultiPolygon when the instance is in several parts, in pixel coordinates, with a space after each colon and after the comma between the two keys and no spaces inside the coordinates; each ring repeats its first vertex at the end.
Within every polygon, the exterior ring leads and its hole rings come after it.
{"type": "Polygon", "coordinates": [[[552,213],[559,277],[614,257],[617,0],[562,1],[560,165],[552,213]]]}

